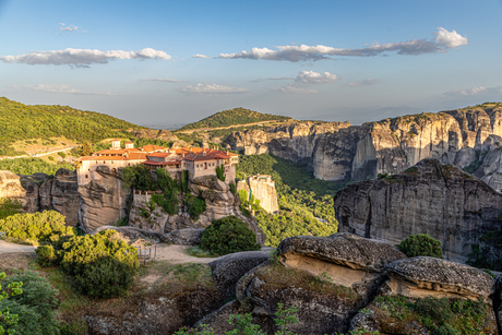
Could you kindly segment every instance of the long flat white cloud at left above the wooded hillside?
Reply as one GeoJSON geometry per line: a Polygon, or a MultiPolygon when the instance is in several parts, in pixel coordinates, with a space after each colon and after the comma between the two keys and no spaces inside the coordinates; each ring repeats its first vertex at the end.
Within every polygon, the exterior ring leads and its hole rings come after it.
{"type": "Polygon", "coordinates": [[[0,58],[5,63],[23,63],[29,65],[72,65],[77,68],[88,68],[91,64],[106,64],[116,59],[162,59],[169,60],[171,57],[164,51],[145,48],[140,51],[109,50],[100,51],[97,49],[72,49],[32,51],[25,55],[2,56],[0,58]]]}

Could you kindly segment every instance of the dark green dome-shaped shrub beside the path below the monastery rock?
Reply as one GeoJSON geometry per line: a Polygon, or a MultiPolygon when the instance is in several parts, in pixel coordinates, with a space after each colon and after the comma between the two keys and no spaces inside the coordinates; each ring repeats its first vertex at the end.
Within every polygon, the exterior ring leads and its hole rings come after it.
{"type": "Polygon", "coordinates": [[[217,254],[259,250],[256,236],[237,216],[214,220],[202,235],[201,248],[217,254]]]}

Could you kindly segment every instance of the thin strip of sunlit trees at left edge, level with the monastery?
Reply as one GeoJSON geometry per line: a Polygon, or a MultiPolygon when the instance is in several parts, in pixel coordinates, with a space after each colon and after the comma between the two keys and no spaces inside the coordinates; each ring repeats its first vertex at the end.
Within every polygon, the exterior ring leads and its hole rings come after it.
{"type": "Polygon", "coordinates": [[[75,170],[75,167],[72,164],[62,161],[52,164],[45,161],[41,158],[15,158],[0,160],[0,170],[9,170],[16,175],[33,175],[41,172],[53,176],[60,168],[71,171],[75,170]]]}

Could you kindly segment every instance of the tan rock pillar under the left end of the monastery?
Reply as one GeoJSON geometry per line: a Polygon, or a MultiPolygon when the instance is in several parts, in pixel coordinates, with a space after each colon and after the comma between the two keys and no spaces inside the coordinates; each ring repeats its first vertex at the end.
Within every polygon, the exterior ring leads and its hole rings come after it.
{"type": "Polygon", "coordinates": [[[128,214],[131,190],[123,186],[122,169],[111,171],[107,166],[98,166],[99,178],[79,187],[79,222],[84,232],[100,226],[113,226],[128,214]]]}

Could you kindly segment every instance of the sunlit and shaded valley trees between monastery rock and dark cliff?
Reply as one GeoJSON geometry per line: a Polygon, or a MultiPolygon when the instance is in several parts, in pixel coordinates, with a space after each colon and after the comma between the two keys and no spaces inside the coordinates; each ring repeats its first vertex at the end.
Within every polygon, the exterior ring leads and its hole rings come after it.
{"type": "Polygon", "coordinates": [[[343,188],[331,181],[319,180],[303,165],[274,155],[241,156],[237,176],[271,175],[277,189],[279,213],[255,213],[267,246],[277,247],[288,237],[330,236],[337,231],[333,196],[343,188]]]}

